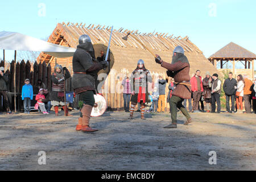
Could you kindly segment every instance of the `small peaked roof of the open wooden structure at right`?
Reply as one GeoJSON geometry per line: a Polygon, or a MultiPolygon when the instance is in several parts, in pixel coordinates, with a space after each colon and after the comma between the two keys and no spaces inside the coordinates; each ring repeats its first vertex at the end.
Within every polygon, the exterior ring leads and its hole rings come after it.
{"type": "Polygon", "coordinates": [[[209,59],[256,59],[256,55],[247,49],[230,42],[214,53],[209,59]]]}

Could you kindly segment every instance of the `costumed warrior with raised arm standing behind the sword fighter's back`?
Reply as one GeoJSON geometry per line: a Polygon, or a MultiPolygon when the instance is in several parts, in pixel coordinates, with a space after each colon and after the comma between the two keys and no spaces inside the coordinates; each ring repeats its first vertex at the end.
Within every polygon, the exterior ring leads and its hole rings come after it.
{"type": "Polygon", "coordinates": [[[62,68],[59,64],[55,65],[54,73],[52,74],[52,92],[49,100],[51,101],[51,105],[54,106],[56,116],[59,116],[59,106],[63,107],[64,111],[66,110],[64,113],[66,116],[72,116],[68,114],[68,107],[64,101],[64,81],[69,77],[71,75],[66,67],[62,68]]]}

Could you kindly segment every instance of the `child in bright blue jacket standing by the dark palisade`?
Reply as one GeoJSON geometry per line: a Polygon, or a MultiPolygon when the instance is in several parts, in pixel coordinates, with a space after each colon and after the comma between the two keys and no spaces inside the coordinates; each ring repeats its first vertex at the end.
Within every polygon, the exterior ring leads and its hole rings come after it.
{"type": "Polygon", "coordinates": [[[24,106],[24,113],[30,114],[31,100],[33,100],[33,87],[30,84],[30,79],[26,79],[25,85],[22,86],[22,100],[24,106]]]}

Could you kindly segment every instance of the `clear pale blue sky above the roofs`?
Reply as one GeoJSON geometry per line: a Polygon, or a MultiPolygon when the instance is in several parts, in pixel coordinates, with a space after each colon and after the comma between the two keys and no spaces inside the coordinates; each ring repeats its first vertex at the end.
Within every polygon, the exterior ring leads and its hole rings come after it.
{"type": "MultiPolygon", "coordinates": [[[[58,22],[189,36],[206,57],[234,42],[256,53],[256,1],[0,1],[0,31],[48,37],[58,22]]],[[[2,57],[2,51],[0,52],[2,57]]],[[[6,59],[13,52],[6,51],[6,59]]],[[[256,69],[256,65],[255,65],[256,69]]]]}

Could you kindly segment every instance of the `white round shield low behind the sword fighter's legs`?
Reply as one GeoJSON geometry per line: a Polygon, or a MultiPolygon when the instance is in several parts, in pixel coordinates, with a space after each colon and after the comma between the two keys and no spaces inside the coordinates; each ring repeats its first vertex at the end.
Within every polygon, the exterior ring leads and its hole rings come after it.
{"type": "Polygon", "coordinates": [[[103,96],[100,94],[94,95],[95,104],[92,109],[92,114],[90,114],[92,117],[99,117],[102,114],[105,113],[107,105],[106,100],[103,96]]]}

